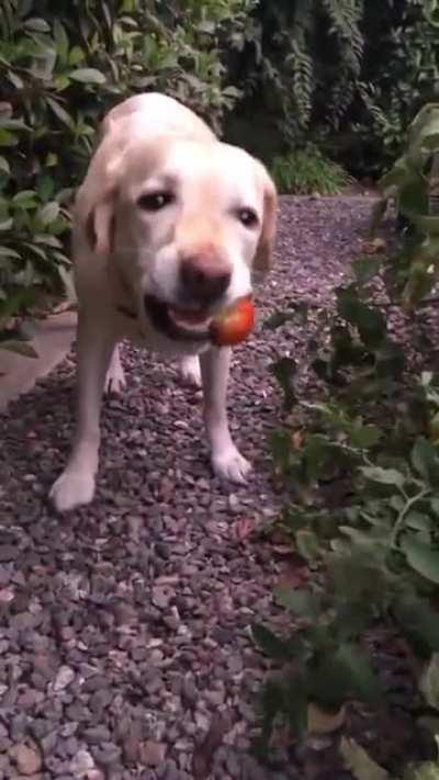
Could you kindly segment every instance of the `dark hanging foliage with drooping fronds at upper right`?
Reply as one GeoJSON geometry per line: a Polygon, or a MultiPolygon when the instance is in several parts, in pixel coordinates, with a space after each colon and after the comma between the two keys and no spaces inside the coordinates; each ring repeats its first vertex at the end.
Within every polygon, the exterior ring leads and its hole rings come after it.
{"type": "Polygon", "coordinates": [[[419,108],[437,100],[435,8],[424,0],[260,0],[254,41],[235,68],[245,89],[236,137],[258,150],[266,144],[267,159],[275,145],[275,154],[288,154],[311,138],[353,176],[379,176],[419,108]]]}

